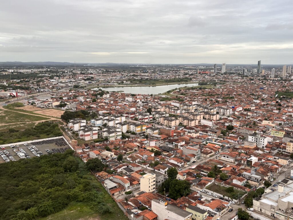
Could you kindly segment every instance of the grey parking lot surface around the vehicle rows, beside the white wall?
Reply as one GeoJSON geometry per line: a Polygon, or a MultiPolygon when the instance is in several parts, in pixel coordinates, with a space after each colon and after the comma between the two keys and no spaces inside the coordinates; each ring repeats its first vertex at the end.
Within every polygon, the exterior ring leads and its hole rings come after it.
{"type": "MultiPolygon", "coordinates": [[[[13,145],[13,144],[11,144],[13,145]]],[[[28,149],[28,147],[31,147],[32,145],[34,145],[36,148],[38,148],[38,150],[40,152],[42,152],[42,154],[48,154],[48,152],[46,151],[46,149],[49,149],[52,153],[61,153],[62,151],[65,150],[65,148],[70,148],[69,145],[64,145],[64,146],[58,146],[55,143],[45,143],[42,145],[37,145],[36,143],[29,143],[27,146],[21,144],[19,145],[19,147],[16,148],[10,148],[10,147],[5,147],[5,150],[8,151],[8,153],[15,159],[15,160],[19,160],[21,159],[17,153],[14,151],[14,149],[19,149],[22,148],[24,150],[24,152],[29,156],[29,157],[35,157],[35,155],[33,154],[33,152],[31,150],[28,149]],[[62,149],[63,148],[63,149],[62,149]],[[56,149],[55,151],[52,149],[56,149]],[[59,150],[60,151],[59,151],[59,150]],[[59,152],[58,152],[59,151],[59,152]]],[[[17,151],[17,150],[16,150],[17,151]]],[[[0,150],[0,152],[4,152],[4,150],[0,150]]],[[[28,158],[29,158],[28,157],[28,158]]],[[[5,163],[5,160],[3,159],[3,157],[0,157],[0,163],[5,163]]]]}

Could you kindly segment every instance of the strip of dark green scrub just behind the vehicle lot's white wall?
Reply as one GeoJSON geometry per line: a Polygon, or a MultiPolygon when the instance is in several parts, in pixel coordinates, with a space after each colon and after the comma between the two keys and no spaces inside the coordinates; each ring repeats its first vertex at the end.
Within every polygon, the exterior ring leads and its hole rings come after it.
{"type": "Polygon", "coordinates": [[[38,123],[33,127],[27,127],[24,130],[21,128],[9,128],[8,130],[1,130],[0,144],[16,143],[22,141],[30,141],[41,138],[52,138],[62,136],[57,123],[45,121],[38,123]]]}

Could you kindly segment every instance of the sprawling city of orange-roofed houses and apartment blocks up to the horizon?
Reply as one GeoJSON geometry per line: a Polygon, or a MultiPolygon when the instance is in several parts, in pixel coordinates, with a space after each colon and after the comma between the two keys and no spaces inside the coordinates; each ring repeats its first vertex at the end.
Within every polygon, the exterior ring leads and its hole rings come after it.
{"type": "Polygon", "coordinates": [[[291,66],[261,61],[3,65],[0,129],[20,114],[60,132],[0,138],[0,162],[71,148],[100,161],[92,174],[130,220],[293,219],[292,88],[291,66]]]}

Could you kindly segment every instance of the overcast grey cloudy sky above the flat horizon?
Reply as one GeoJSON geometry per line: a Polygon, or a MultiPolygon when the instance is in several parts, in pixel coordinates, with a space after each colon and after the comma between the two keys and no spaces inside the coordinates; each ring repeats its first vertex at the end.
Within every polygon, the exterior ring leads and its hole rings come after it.
{"type": "Polygon", "coordinates": [[[0,61],[292,64],[292,0],[1,0],[0,61]]]}

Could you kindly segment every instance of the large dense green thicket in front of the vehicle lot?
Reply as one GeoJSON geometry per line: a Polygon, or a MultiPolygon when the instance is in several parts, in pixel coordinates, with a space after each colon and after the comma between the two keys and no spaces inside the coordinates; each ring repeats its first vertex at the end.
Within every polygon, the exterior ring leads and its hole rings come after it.
{"type": "MultiPolygon", "coordinates": [[[[62,211],[71,202],[87,204],[100,215],[120,214],[100,183],[73,155],[43,155],[0,165],[0,216],[2,220],[30,220],[62,211]],[[117,212],[118,211],[118,212],[117,212]],[[114,213],[116,212],[116,213],[114,213]]],[[[66,219],[66,216],[64,216],[66,219]]],[[[105,218],[103,218],[105,219],[105,218]]]]}

